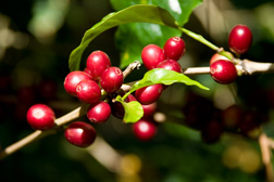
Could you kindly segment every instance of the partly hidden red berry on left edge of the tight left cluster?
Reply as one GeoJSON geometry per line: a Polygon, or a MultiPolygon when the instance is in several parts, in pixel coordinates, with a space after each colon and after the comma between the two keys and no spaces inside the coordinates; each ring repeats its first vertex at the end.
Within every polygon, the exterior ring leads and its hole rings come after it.
{"type": "Polygon", "coordinates": [[[76,87],[84,79],[91,79],[91,77],[85,72],[80,70],[71,72],[70,74],[66,75],[64,80],[65,91],[68,94],[76,96],[77,95],[76,87]]]}

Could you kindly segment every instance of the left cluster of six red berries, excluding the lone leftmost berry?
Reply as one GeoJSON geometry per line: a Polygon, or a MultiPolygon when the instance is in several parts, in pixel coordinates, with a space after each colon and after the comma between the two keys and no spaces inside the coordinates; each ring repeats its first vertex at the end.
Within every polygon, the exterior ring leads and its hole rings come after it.
{"type": "MultiPolygon", "coordinates": [[[[111,66],[110,57],[103,51],[94,51],[86,61],[84,72],[71,72],[64,80],[64,89],[79,101],[90,104],[87,118],[90,122],[105,122],[111,115],[111,106],[101,100],[101,89],[108,93],[116,92],[123,84],[123,73],[111,66]]],[[[72,122],[65,129],[65,139],[80,147],[90,145],[96,139],[95,128],[84,121],[72,122]]]]}

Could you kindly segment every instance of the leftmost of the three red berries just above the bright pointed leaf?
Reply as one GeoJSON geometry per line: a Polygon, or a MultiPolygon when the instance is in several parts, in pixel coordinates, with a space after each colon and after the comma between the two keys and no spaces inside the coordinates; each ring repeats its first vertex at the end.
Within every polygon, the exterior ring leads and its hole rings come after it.
{"type": "Polygon", "coordinates": [[[164,61],[163,50],[157,44],[148,44],[141,50],[141,60],[147,69],[153,69],[164,61]]]}

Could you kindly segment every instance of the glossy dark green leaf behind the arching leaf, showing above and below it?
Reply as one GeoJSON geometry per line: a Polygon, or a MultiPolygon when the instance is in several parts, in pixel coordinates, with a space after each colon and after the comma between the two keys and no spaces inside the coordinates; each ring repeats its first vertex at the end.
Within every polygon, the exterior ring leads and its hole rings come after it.
{"type": "MultiPolygon", "coordinates": [[[[119,11],[133,4],[154,4],[169,11],[179,26],[188,22],[192,10],[202,0],[111,0],[113,8],[119,11]]],[[[119,27],[115,34],[116,47],[120,51],[120,67],[124,68],[132,62],[141,62],[141,50],[147,44],[153,43],[163,47],[171,37],[180,37],[182,31],[153,24],[126,24],[119,27]]]]}

